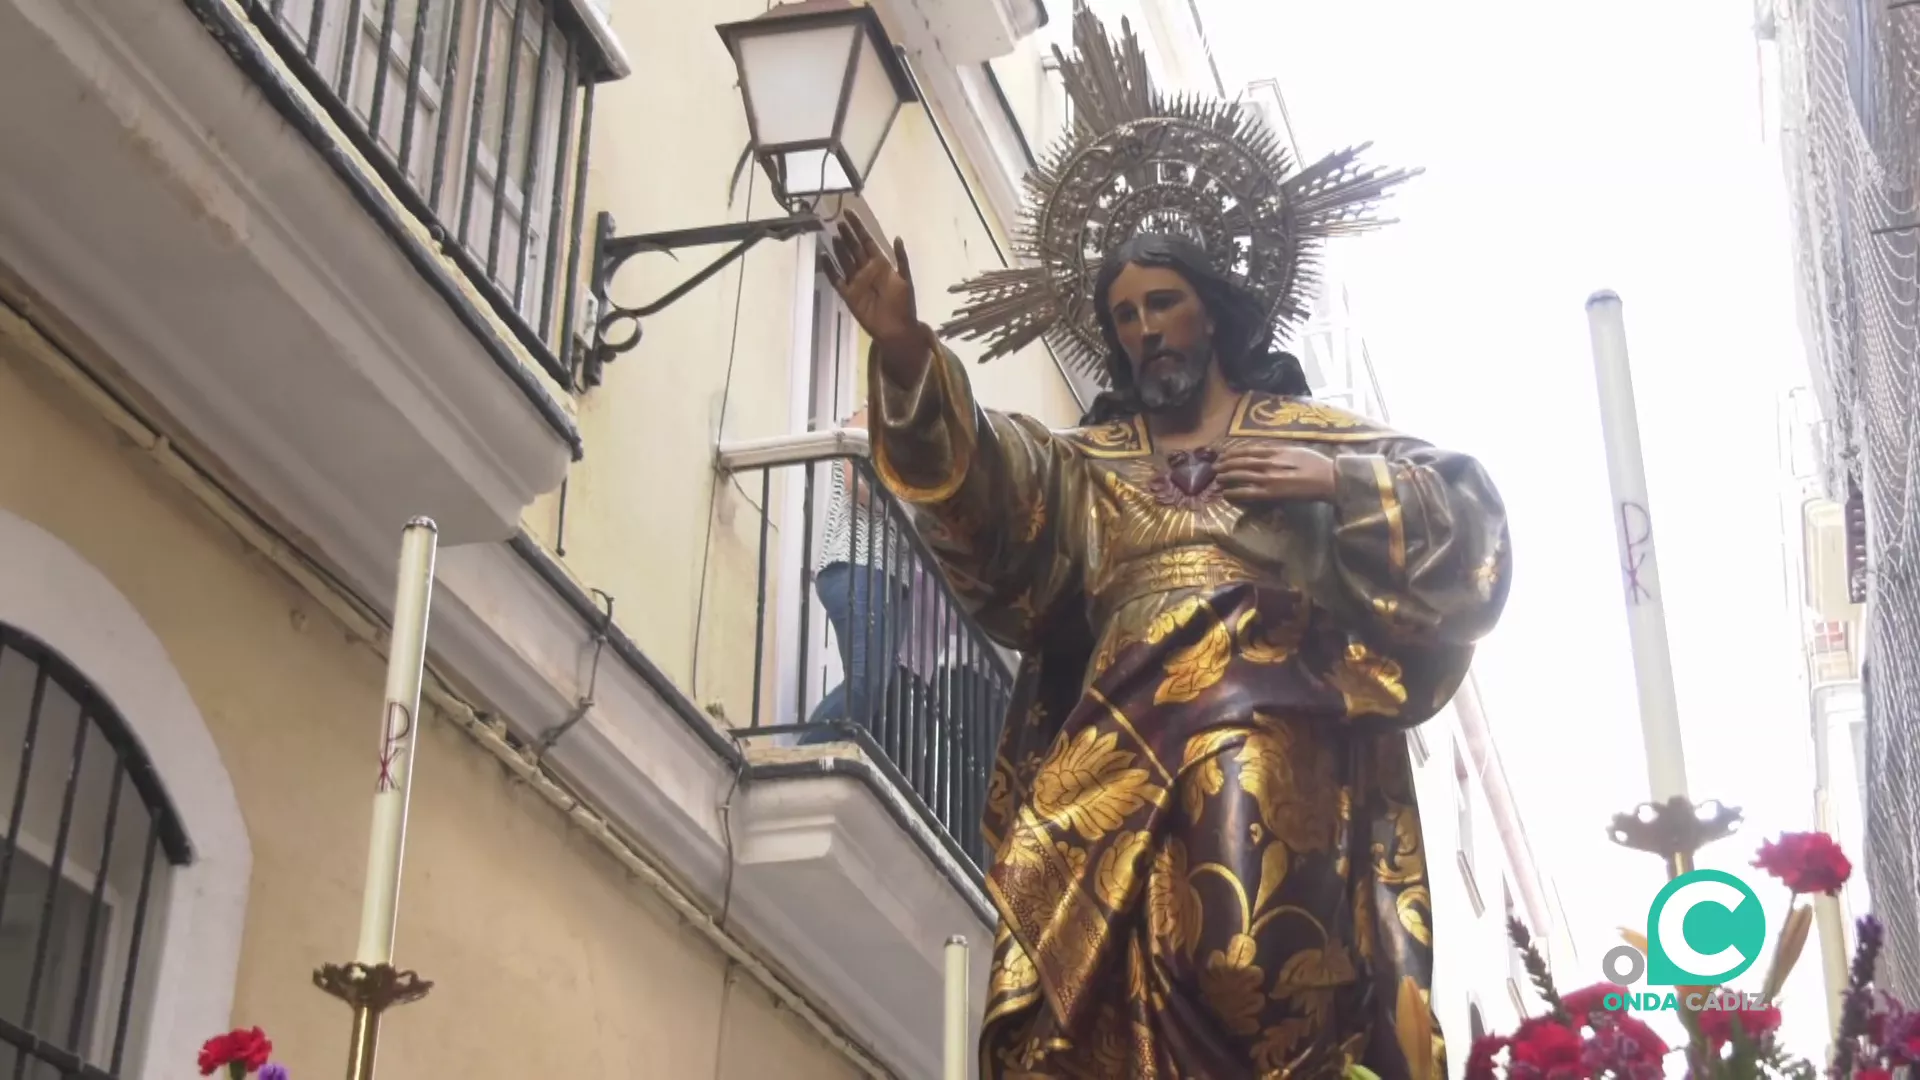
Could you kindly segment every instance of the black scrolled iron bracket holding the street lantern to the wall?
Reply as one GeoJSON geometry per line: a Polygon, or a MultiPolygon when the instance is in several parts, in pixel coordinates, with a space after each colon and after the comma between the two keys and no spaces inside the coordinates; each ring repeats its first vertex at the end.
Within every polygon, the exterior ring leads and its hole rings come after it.
{"type": "Polygon", "coordinates": [[[593,321],[593,342],[588,348],[582,382],[597,386],[601,369],[622,352],[639,344],[639,321],[659,315],[682,296],[699,288],[707,279],[720,273],[747,254],[760,240],[791,240],[806,233],[818,233],[826,221],[816,213],[793,213],[789,217],[764,217],[760,221],[730,221],[726,225],[707,225],[703,229],[676,229],[672,233],[643,233],[637,236],[614,236],[612,215],[599,213],[593,227],[593,300],[597,317],[593,321]],[[680,248],[705,248],[710,244],[733,244],[720,258],[707,263],[693,277],[676,284],[670,292],[651,304],[624,306],[609,296],[612,277],[634,256],[645,252],[672,254],[680,248]]]}

